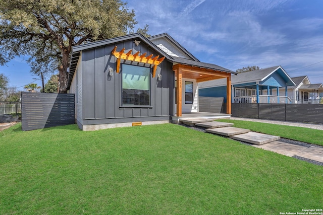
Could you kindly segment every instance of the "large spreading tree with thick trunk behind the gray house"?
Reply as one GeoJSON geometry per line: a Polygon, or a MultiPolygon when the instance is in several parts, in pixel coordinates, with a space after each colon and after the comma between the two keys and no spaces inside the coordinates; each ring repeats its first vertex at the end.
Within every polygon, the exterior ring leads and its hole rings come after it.
{"type": "Polygon", "coordinates": [[[29,55],[32,73],[59,70],[61,93],[73,45],[125,35],[137,23],[121,0],[0,0],[0,17],[0,63],[29,55]]]}

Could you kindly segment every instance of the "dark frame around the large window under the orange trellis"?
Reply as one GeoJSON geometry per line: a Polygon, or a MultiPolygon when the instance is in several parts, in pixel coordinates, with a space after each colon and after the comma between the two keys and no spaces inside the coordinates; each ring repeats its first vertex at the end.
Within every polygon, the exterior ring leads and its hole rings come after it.
{"type": "Polygon", "coordinates": [[[119,73],[121,76],[120,76],[120,106],[119,108],[122,108],[122,109],[141,109],[141,108],[152,108],[152,105],[151,105],[151,83],[152,83],[152,80],[151,80],[151,67],[147,67],[147,66],[142,66],[142,65],[132,65],[132,64],[128,64],[128,63],[121,63],[121,72],[119,73]],[[149,84],[149,104],[148,105],[124,105],[123,104],[123,69],[124,69],[124,65],[129,65],[129,66],[134,66],[134,67],[143,67],[143,68],[147,68],[149,69],[149,75],[148,75],[148,84],[149,84]]]}

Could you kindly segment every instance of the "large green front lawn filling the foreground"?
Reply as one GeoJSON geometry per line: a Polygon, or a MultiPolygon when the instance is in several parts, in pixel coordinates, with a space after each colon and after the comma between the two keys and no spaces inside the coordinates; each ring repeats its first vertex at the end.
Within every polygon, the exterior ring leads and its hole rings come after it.
{"type": "Polygon", "coordinates": [[[279,214],[322,208],[323,169],[175,124],[0,132],[0,214],[279,214]]]}

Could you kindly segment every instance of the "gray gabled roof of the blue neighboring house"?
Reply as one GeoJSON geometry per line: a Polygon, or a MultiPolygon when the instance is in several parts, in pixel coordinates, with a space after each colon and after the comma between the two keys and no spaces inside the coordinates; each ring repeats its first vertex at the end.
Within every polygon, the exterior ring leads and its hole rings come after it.
{"type": "MultiPolygon", "coordinates": [[[[286,81],[288,86],[295,85],[293,80],[287,75],[286,71],[282,68],[282,66],[272,66],[272,67],[258,69],[258,70],[246,71],[245,73],[239,73],[236,76],[231,77],[231,84],[237,85],[237,84],[262,82],[275,72],[277,72],[279,75],[283,77],[283,79],[286,81]]],[[[226,80],[218,79],[218,80],[212,80],[212,81],[200,83],[199,87],[209,88],[209,87],[226,85],[226,83],[227,83],[226,80]]]]}

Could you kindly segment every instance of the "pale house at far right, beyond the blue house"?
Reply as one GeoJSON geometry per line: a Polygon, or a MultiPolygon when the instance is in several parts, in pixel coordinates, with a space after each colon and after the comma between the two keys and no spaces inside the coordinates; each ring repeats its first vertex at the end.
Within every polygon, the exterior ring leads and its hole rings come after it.
{"type": "Polygon", "coordinates": [[[295,86],[288,86],[288,97],[294,104],[319,104],[322,84],[311,84],[307,76],[292,78],[295,86]]]}

